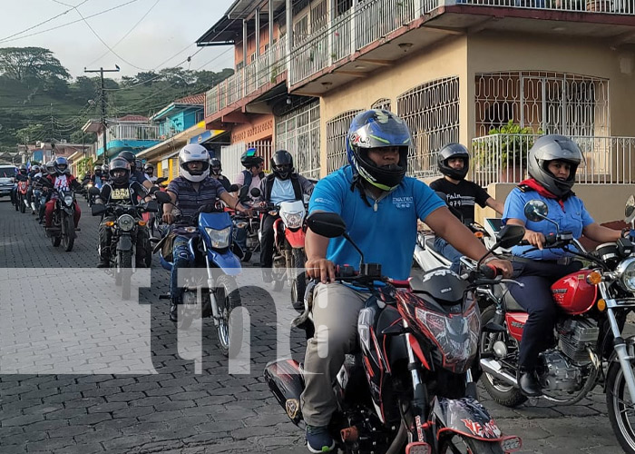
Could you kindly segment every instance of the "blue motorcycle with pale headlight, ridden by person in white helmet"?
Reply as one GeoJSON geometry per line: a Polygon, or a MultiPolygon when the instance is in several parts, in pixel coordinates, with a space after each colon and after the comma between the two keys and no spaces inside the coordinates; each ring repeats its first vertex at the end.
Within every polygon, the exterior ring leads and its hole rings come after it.
{"type": "MultiPolygon", "coordinates": [[[[156,192],[158,202],[171,203],[167,192],[156,192]]],[[[205,207],[192,217],[181,217],[174,226],[184,230],[190,236],[188,247],[193,257],[190,270],[204,268],[205,272],[191,270],[183,285],[182,307],[179,312],[177,326],[187,329],[191,322],[198,317],[211,317],[219,336],[220,351],[229,356],[230,347],[239,345],[237,336],[241,331],[230,326],[231,311],[241,306],[240,293],[236,276],[239,275],[240,260],[232,252],[231,241],[232,223],[228,212],[207,212],[205,207]]],[[[166,234],[154,246],[154,252],[159,252],[161,266],[171,271],[173,261],[162,246],[171,238],[166,234]]],[[[239,252],[239,251],[237,251],[239,252]]],[[[241,255],[241,253],[239,253],[241,255]]],[[[161,295],[161,299],[171,299],[171,295],[161,295]]]]}

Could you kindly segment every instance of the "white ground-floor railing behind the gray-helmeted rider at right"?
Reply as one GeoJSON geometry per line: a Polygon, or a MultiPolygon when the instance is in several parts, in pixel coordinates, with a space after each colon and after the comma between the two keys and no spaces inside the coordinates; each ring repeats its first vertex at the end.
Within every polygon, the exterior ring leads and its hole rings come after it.
{"type": "MultiPolygon", "coordinates": [[[[521,183],[527,178],[527,153],[540,135],[493,134],[472,140],[472,179],[490,183],[521,183]]],[[[635,183],[635,137],[572,135],[584,154],[578,183],[635,183]]]]}

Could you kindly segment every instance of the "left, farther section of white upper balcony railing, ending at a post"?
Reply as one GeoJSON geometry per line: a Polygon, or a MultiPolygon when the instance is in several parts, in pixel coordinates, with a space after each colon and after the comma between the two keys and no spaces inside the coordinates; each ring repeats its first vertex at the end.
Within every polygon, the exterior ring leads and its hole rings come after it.
{"type": "Polygon", "coordinates": [[[255,61],[214,86],[205,94],[205,116],[219,112],[230,104],[274,83],[286,69],[287,41],[282,37],[255,61]]]}

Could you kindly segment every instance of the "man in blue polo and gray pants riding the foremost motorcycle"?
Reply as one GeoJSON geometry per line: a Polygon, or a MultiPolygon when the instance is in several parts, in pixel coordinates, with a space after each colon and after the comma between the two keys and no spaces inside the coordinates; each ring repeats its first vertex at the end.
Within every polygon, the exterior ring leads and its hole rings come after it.
{"type": "MultiPolygon", "coordinates": [[[[346,146],[350,165],[318,182],[309,212],[342,216],[366,262],[381,263],[388,277],[406,279],[415,251],[417,220],[425,221],[469,257],[480,259],[487,253],[435,192],[425,183],[405,177],[413,141],[407,125],[396,114],[384,110],[358,114],[350,125],[346,146]]],[[[307,422],[308,449],[326,452],[335,447],[327,430],[337,409],[332,383],[345,355],[356,345],[357,316],[367,294],[327,283],[335,278],[336,264],[359,263],[359,254],[349,243],[342,238],[329,241],[309,229],[305,244],[308,276],[320,283],[314,291],[312,311],[317,331],[307,346],[302,415],[307,422]]],[[[510,262],[488,262],[503,275],[512,272],[510,262]]]]}

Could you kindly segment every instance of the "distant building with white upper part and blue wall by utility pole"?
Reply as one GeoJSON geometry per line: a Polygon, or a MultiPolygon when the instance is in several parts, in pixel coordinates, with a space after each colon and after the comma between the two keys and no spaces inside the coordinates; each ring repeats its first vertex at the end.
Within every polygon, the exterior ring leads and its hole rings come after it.
{"type": "Polygon", "coordinates": [[[105,160],[111,160],[124,151],[140,153],[146,148],[161,142],[159,127],[148,123],[148,117],[143,115],[125,115],[120,118],[107,119],[107,127],[99,120],[89,120],[82,131],[96,133],[96,160],[103,161],[104,139],[106,143],[105,160]]]}

